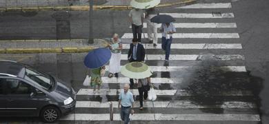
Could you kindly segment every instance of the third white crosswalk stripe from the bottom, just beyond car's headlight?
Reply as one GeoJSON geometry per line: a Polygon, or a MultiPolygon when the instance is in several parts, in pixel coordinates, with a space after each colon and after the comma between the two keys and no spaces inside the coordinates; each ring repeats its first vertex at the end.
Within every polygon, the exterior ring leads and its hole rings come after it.
{"type": "MultiPolygon", "coordinates": [[[[121,89],[101,89],[100,92],[97,92],[94,94],[93,89],[80,89],[79,92],[77,92],[77,95],[110,95],[110,96],[116,96],[123,90],[121,89]]],[[[139,92],[137,89],[130,90],[133,95],[139,95],[139,92]]],[[[192,94],[189,90],[155,90],[156,94],[158,96],[174,96],[175,94],[178,96],[194,96],[195,94],[192,94]]],[[[220,92],[216,94],[212,94],[212,96],[253,96],[252,92],[250,91],[228,91],[228,92],[220,92]]]]}

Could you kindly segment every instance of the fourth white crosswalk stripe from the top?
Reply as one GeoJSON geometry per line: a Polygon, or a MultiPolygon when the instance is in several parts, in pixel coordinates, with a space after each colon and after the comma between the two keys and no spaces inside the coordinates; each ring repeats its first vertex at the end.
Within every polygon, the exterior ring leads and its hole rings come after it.
{"type": "MultiPolygon", "coordinates": [[[[158,38],[161,38],[158,33],[158,38]]],[[[125,33],[121,39],[132,39],[132,33],[125,33]]],[[[175,33],[172,34],[173,39],[239,39],[238,33],[175,33]]],[[[142,33],[142,39],[148,38],[147,33],[142,33]],[[145,37],[144,37],[145,36],[145,37]]]]}

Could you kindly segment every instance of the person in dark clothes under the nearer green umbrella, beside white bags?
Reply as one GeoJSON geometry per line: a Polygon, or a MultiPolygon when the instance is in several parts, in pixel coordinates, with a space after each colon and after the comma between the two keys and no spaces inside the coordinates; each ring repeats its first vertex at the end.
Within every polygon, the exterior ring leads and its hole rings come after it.
{"type": "Polygon", "coordinates": [[[139,92],[139,110],[143,110],[143,99],[146,101],[148,98],[148,90],[150,90],[150,77],[146,79],[139,79],[137,83],[137,88],[139,92]]]}

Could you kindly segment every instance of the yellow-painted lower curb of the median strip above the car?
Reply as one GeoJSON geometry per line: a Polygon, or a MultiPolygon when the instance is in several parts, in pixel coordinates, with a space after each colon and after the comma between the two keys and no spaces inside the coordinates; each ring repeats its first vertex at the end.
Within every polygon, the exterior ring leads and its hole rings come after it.
{"type": "Polygon", "coordinates": [[[93,47],[83,48],[6,48],[0,54],[37,54],[37,53],[80,53],[94,50],[93,47]]]}

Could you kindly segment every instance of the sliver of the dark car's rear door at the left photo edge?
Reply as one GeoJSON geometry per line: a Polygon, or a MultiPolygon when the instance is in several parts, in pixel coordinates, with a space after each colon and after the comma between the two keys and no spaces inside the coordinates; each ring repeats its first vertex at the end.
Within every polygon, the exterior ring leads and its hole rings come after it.
{"type": "Polygon", "coordinates": [[[6,89],[5,86],[5,80],[0,79],[0,116],[5,115],[6,113],[6,94],[4,92],[4,89],[6,89]]]}

